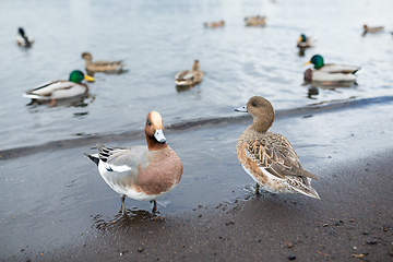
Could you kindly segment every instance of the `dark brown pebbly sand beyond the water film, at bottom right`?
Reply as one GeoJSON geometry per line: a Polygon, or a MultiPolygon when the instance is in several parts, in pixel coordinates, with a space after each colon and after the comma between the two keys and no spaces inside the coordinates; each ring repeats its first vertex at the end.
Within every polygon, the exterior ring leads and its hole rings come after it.
{"type": "MultiPolygon", "coordinates": [[[[95,217],[97,231],[32,261],[392,261],[393,153],[326,168],[321,201],[241,198],[183,214],[95,217]],[[389,193],[386,193],[389,192],[389,193]]],[[[131,214],[129,214],[131,215],[131,214]]]]}

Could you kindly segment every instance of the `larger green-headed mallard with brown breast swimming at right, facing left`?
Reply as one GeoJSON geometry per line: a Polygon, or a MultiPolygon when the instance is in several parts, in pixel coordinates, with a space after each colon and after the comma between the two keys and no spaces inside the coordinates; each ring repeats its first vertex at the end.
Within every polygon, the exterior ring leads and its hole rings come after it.
{"type": "Polygon", "coordinates": [[[324,63],[322,56],[314,55],[310,61],[306,62],[303,66],[312,63],[314,69],[308,69],[305,72],[306,81],[317,81],[317,82],[348,82],[356,81],[356,72],[358,72],[360,67],[350,67],[350,66],[341,66],[333,63],[324,63]]]}

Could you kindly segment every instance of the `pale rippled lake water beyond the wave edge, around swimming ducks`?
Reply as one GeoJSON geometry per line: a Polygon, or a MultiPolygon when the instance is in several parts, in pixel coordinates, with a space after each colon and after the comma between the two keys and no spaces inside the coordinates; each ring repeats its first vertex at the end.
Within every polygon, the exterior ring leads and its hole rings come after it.
{"type": "Polygon", "coordinates": [[[90,134],[142,130],[148,111],[165,124],[234,116],[252,95],[275,109],[337,99],[393,96],[392,1],[0,1],[0,150],[40,145],[90,134]],[[266,15],[265,27],[246,27],[247,15],[266,15]],[[225,20],[224,28],[204,22],[225,20]],[[362,37],[362,25],[384,33],[362,37]],[[17,27],[33,36],[15,45],[17,27]],[[297,55],[301,33],[317,39],[297,55]],[[49,80],[84,71],[93,60],[123,59],[123,74],[94,76],[90,97],[76,106],[27,105],[22,94],[49,80]],[[325,62],[362,67],[358,85],[318,88],[309,98],[303,71],[312,55],[325,62]],[[202,83],[177,92],[174,76],[199,59],[202,83]]]}

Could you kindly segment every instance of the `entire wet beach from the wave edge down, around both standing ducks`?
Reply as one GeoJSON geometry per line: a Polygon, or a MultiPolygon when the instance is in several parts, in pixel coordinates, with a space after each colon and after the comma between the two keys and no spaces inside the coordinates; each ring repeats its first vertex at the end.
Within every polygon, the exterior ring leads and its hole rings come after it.
{"type": "MultiPolygon", "coordinates": [[[[158,206],[158,215],[147,212],[148,203],[132,200],[126,202],[128,216],[117,213],[120,198],[82,156],[86,145],[4,155],[0,259],[391,261],[392,108],[389,102],[277,117],[273,128],[285,133],[306,169],[320,178],[312,184],[321,200],[262,191],[253,195],[252,180],[234,152],[249,118],[168,131],[184,175],[165,199],[172,204],[158,206]],[[380,124],[373,126],[373,119],[380,124]],[[290,130],[301,132],[300,138],[290,130]],[[190,154],[187,146],[194,144],[200,154],[190,154]],[[215,153],[209,155],[203,148],[211,147],[215,153]]],[[[114,138],[103,142],[127,142],[114,138]]],[[[143,143],[135,138],[127,144],[143,143]]]]}

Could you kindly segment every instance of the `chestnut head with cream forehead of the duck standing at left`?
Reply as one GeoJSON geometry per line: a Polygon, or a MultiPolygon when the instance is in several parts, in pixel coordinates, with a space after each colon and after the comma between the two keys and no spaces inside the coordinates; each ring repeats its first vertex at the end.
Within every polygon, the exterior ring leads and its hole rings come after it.
{"type": "Polygon", "coordinates": [[[151,111],[150,114],[147,114],[145,134],[147,138],[147,146],[150,148],[154,143],[164,144],[166,142],[166,138],[164,135],[163,118],[158,112],[151,111]],[[150,141],[154,142],[150,144],[150,141]]]}

